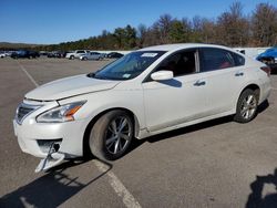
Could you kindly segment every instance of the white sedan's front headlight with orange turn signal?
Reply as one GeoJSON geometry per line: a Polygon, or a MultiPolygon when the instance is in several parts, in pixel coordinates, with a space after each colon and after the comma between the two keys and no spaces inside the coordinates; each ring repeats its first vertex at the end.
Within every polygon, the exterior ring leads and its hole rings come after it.
{"type": "Polygon", "coordinates": [[[70,103],[49,110],[37,117],[38,123],[62,123],[74,121],[74,114],[86,101],[70,103]]]}

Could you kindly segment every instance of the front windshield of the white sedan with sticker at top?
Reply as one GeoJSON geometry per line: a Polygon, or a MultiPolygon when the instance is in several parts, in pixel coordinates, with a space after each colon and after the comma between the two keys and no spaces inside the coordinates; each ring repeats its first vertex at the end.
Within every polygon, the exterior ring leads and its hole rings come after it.
{"type": "Polygon", "coordinates": [[[140,75],[164,53],[165,51],[132,52],[89,76],[100,80],[131,80],[140,75]]]}

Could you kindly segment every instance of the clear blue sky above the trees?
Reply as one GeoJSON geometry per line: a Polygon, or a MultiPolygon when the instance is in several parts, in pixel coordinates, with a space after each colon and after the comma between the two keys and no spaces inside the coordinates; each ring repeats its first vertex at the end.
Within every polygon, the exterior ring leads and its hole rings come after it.
{"type": "MultiPolygon", "coordinates": [[[[99,35],[103,30],[140,23],[151,25],[161,14],[216,18],[233,0],[0,0],[0,42],[60,43],[99,35]]],[[[250,14],[257,3],[242,0],[250,14]]]]}

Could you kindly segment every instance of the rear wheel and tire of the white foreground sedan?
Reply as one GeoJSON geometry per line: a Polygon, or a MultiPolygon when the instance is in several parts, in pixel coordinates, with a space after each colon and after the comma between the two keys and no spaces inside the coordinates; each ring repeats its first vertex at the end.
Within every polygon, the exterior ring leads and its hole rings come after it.
{"type": "Polygon", "coordinates": [[[234,121],[238,123],[248,123],[257,115],[258,95],[255,91],[246,89],[239,96],[234,121]]]}

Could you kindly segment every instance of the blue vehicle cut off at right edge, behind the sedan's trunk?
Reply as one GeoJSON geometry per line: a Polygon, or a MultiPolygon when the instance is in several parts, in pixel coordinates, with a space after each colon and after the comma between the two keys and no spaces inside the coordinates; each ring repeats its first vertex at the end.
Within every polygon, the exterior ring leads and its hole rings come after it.
{"type": "Polygon", "coordinates": [[[277,73],[277,46],[266,50],[264,53],[260,53],[256,59],[270,66],[271,73],[277,73]]]}

